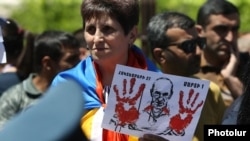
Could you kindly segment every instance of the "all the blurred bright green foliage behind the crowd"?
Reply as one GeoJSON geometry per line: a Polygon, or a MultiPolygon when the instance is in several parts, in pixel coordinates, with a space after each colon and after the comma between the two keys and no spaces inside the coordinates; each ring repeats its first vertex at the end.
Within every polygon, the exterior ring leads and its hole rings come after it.
{"type": "MultiPolygon", "coordinates": [[[[142,0],[146,1],[146,0],[142,0]]],[[[198,8],[206,0],[155,0],[156,13],[179,11],[196,20],[198,8]]],[[[241,12],[241,32],[250,31],[250,0],[229,0],[241,12]]],[[[80,5],[82,0],[23,0],[12,13],[20,25],[32,32],[59,29],[72,32],[82,27],[80,5]]],[[[139,29],[140,29],[139,25],[139,29]]]]}

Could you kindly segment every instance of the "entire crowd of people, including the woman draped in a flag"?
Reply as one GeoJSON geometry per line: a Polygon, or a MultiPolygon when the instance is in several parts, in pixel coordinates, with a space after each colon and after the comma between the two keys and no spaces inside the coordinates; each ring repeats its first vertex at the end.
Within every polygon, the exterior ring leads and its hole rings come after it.
{"type": "Polygon", "coordinates": [[[151,58],[135,45],[138,0],[84,0],[79,7],[83,27],[72,33],[33,34],[13,19],[1,22],[7,63],[0,66],[0,140],[5,126],[39,105],[48,90],[73,80],[84,99],[78,121],[84,137],[74,140],[167,141],[101,128],[117,64],[210,81],[193,141],[204,141],[204,125],[249,123],[249,49],[241,41],[248,36],[239,38],[235,5],[208,0],[196,21],[178,11],[155,14],[146,29],[151,58]]]}

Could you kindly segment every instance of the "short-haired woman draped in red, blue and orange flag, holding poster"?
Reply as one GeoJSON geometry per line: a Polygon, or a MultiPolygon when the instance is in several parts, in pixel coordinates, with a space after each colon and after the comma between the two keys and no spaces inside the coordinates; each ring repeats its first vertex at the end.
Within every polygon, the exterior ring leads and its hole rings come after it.
{"type": "Polygon", "coordinates": [[[82,118],[81,127],[88,139],[166,141],[156,135],[146,134],[139,138],[101,128],[117,64],[159,72],[134,45],[139,21],[138,0],[84,0],[81,14],[91,55],[73,69],[57,75],[52,85],[68,78],[81,84],[85,98],[83,108],[88,111],[82,118]]]}

